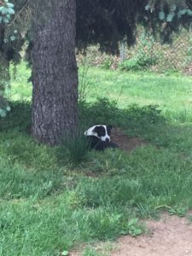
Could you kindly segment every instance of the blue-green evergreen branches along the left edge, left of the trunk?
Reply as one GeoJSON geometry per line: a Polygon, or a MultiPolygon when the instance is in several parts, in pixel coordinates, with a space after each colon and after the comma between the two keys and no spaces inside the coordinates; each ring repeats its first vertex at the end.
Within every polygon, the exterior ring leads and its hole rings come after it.
{"type": "Polygon", "coordinates": [[[9,86],[9,63],[20,61],[20,49],[25,42],[23,26],[23,4],[28,1],[0,1],[0,117],[10,110],[3,97],[3,90],[9,86]],[[22,13],[22,17],[20,14],[22,13]]]}

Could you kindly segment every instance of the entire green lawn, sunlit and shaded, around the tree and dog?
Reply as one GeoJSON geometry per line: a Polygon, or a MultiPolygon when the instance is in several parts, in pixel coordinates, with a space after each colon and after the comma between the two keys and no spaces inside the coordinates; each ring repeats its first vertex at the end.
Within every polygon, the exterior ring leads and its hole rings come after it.
{"type": "Polygon", "coordinates": [[[140,219],[192,208],[191,78],[80,67],[82,124],[107,120],[148,144],[74,162],[67,145],[33,141],[30,70],[17,69],[0,120],[0,255],[67,255],[80,244],[82,255],[102,255],[90,244],[137,236],[140,219]]]}

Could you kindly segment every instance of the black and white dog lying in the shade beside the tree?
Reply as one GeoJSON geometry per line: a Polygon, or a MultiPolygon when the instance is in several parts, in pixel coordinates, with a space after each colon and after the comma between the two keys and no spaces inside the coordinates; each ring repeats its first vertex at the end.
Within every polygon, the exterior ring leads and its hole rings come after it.
{"type": "Polygon", "coordinates": [[[110,139],[112,128],[112,125],[94,125],[84,131],[84,135],[89,137],[89,148],[98,151],[106,148],[118,148],[110,139]]]}

